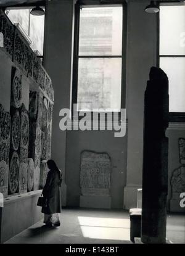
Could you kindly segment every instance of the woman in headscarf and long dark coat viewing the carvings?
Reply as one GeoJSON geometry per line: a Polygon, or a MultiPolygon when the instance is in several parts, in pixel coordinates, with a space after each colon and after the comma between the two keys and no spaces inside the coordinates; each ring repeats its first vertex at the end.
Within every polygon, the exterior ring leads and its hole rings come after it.
{"type": "Polygon", "coordinates": [[[54,160],[47,161],[49,172],[47,173],[46,184],[43,188],[44,223],[47,226],[60,226],[59,213],[61,212],[60,186],[62,183],[62,173],[55,164],[54,160]]]}

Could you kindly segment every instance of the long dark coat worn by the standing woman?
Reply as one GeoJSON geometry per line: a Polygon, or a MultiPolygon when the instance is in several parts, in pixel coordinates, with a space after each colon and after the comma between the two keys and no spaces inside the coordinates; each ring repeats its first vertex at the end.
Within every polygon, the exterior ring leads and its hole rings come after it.
{"type": "Polygon", "coordinates": [[[43,188],[43,196],[46,200],[46,205],[42,207],[43,213],[52,214],[61,212],[60,180],[57,171],[50,170],[47,173],[46,184],[43,188]]]}

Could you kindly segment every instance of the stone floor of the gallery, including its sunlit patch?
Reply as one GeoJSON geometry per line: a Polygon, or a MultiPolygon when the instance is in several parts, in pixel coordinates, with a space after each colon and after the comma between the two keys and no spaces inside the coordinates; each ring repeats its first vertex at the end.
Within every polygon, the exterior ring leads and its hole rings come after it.
{"type": "MultiPolygon", "coordinates": [[[[6,244],[129,244],[130,217],[124,210],[63,209],[59,228],[43,221],[12,237],[6,244]]],[[[185,216],[168,215],[167,238],[185,244],[185,216]]]]}

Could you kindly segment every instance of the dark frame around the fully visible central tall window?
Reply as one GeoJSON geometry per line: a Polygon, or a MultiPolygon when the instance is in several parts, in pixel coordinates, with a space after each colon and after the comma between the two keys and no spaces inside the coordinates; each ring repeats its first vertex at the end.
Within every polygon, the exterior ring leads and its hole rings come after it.
{"type": "MultiPolygon", "coordinates": [[[[125,109],[126,108],[126,39],[127,39],[127,9],[126,9],[126,2],[120,1],[117,2],[117,4],[113,4],[110,2],[104,2],[100,4],[99,2],[95,2],[92,4],[92,2],[81,2],[77,1],[75,4],[75,26],[74,26],[74,47],[73,47],[73,81],[72,81],[72,103],[71,103],[71,112],[72,112],[72,120],[74,118],[74,111],[73,111],[73,105],[77,104],[77,97],[78,97],[78,50],[79,50],[79,32],[80,32],[80,9],[81,6],[86,7],[101,7],[101,6],[122,6],[123,8],[123,20],[122,20],[122,52],[121,56],[111,56],[113,57],[121,57],[121,104],[120,108],[125,109]]],[[[84,58],[88,58],[89,56],[84,56],[84,58]]],[[[93,58],[101,57],[101,58],[109,58],[110,56],[92,56],[93,58]]],[[[80,111],[78,111],[79,116],[80,111]]],[[[99,112],[98,112],[99,113],[99,112]]],[[[107,113],[107,112],[103,112],[107,113]]],[[[113,112],[110,112],[113,113],[113,112]]],[[[119,119],[121,117],[121,112],[118,112],[119,119]]],[[[88,115],[93,115],[93,112],[89,112],[88,115]]],[[[83,116],[79,116],[79,119],[83,118],[83,116]]],[[[105,116],[106,118],[106,116],[105,116]]]]}

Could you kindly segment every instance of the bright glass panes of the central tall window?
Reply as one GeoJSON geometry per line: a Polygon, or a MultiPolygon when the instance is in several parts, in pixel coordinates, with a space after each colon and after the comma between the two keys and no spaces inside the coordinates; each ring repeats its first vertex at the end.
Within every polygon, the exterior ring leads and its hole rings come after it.
{"type": "Polygon", "coordinates": [[[73,103],[120,112],[123,6],[81,6],[78,14],[73,103]]]}

